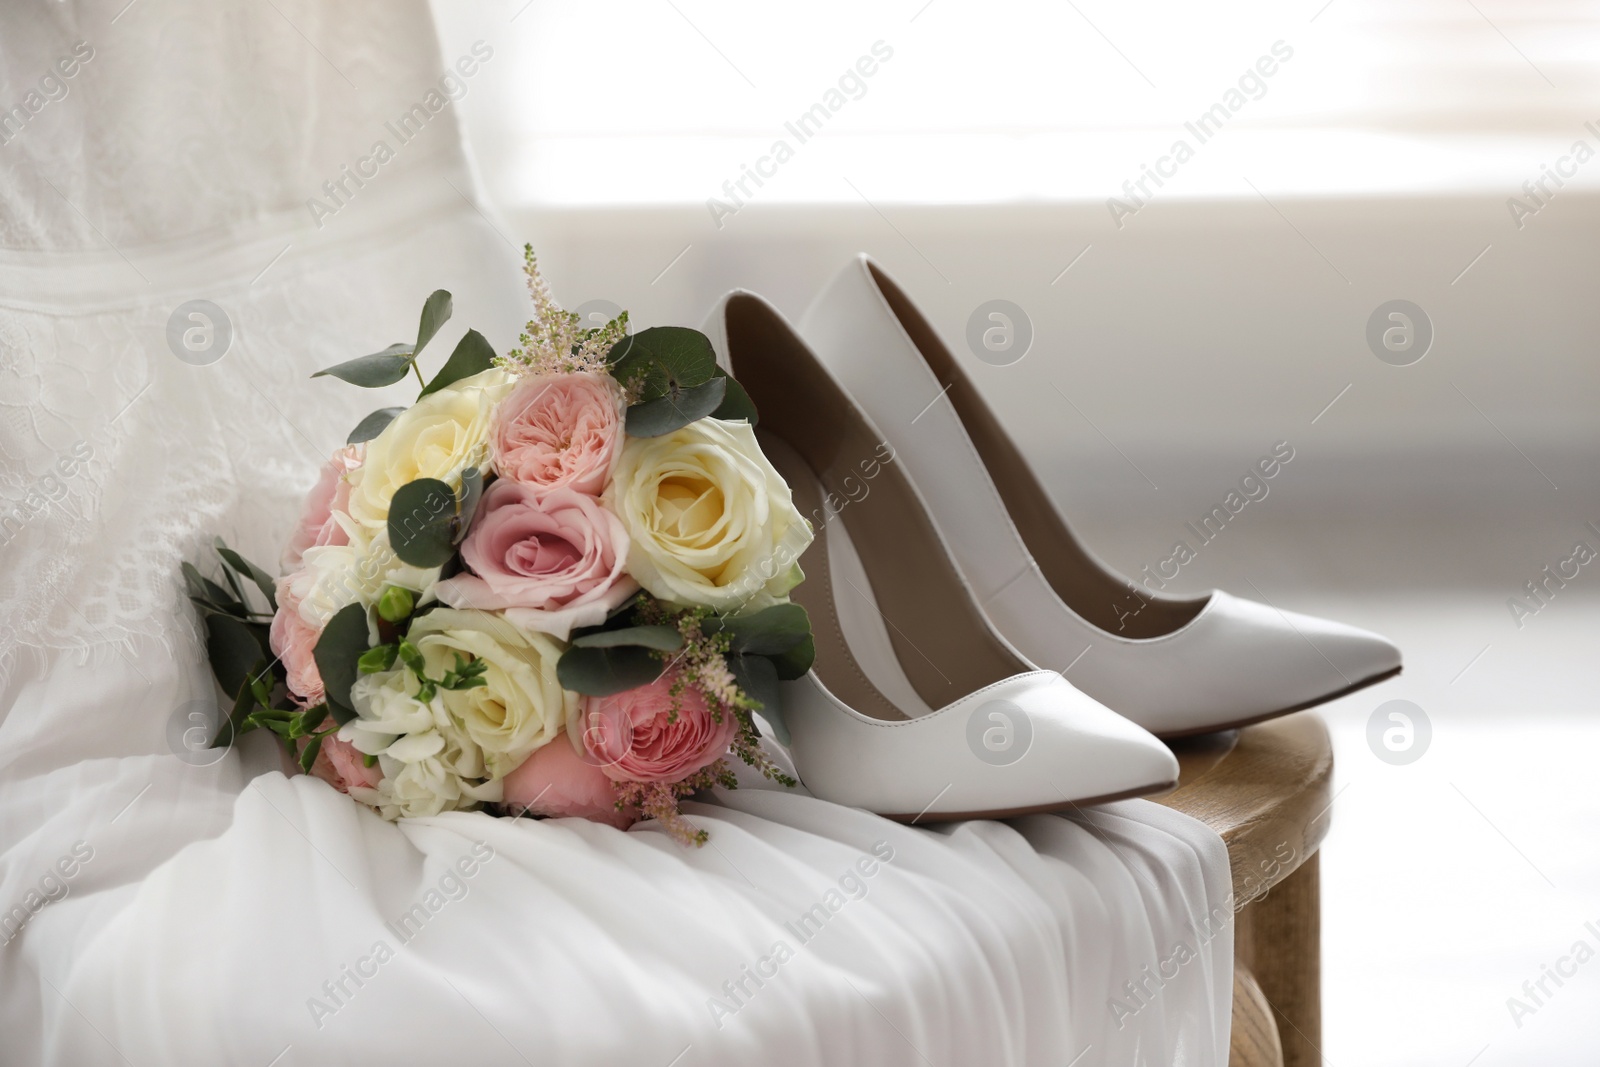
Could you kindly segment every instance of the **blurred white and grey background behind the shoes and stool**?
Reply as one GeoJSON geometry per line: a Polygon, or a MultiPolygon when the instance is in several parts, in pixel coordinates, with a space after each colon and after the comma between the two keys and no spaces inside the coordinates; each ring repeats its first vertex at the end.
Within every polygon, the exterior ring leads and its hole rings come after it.
{"type": "Polygon", "coordinates": [[[534,243],[570,307],[699,322],[741,285],[798,315],[869,251],[968,355],[973,309],[1013,301],[1032,349],[970,371],[1128,571],[1293,443],[1272,494],[1179,584],[1253,584],[1406,653],[1402,678],[1325,709],[1326,1061],[1595,1061],[1600,961],[1520,1025],[1507,998],[1576,941],[1600,947],[1584,928],[1600,928],[1600,569],[1520,627],[1507,600],[1578,541],[1600,549],[1600,158],[1573,155],[1600,152],[1597,5],[496,0],[437,16],[446,56],[494,50],[459,104],[485,211],[534,243]],[[851,77],[875,45],[874,74],[851,77]],[[1290,58],[1242,86],[1275,45],[1290,58]],[[1230,90],[1242,106],[1198,144],[1184,123],[1230,90]],[[802,144],[786,123],[830,91],[842,104],[802,144]],[[1123,182],[1178,138],[1194,158],[1118,226],[1107,198],[1131,205],[1123,182]],[[778,139],[792,158],[736,203],[723,184],[778,139]],[[1397,298],[1435,331],[1410,366],[1365,341],[1397,298]],[[1406,766],[1366,745],[1395,697],[1432,723],[1406,766]]]}

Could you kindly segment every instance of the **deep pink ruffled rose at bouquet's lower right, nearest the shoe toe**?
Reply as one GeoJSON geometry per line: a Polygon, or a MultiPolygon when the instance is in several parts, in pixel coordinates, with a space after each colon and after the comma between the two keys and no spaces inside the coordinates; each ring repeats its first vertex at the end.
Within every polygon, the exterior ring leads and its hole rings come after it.
{"type": "Polygon", "coordinates": [[[618,782],[680,782],[728,750],[739,729],[728,712],[712,718],[706,697],[686,686],[672,720],[672,678],[611,696],[586,696],[584,750],[618,782]]]}

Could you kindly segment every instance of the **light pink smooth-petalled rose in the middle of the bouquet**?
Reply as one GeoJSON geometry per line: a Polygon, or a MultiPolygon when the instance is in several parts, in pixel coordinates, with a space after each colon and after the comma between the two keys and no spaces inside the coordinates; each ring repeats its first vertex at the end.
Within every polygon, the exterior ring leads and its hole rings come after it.
{"type": "Polygon", "coordinates": [[[499,478],[483,493],[461,558],[472,571],[437,585],[443,603],[506,611],[517,625],[563,641],[576,627],[605,622],[638,590],[624,573],[621,520],[573,490],[499,478]]]}

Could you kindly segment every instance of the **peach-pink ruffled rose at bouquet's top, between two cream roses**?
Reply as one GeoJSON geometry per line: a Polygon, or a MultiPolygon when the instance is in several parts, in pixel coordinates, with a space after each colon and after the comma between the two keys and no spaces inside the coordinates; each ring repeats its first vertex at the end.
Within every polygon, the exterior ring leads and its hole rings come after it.
{"type": "Polygon", "coordinates": [[[538,491],[598,496],[622,451],[622,389],[610,374],[523,379],[494,410],[494,470],[538,491]]]}

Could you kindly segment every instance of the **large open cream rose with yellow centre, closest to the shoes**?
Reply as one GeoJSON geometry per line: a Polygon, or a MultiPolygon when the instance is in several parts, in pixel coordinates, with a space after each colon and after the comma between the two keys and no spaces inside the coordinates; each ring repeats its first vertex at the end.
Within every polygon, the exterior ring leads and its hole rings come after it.
{"type": "Polygon", "coordinates": [[[640,585],[715,611],[787,593],[811,544],[789,486],[742,419],[627,438],[605,504],[627,528],[627,571],[640,585]]]}

